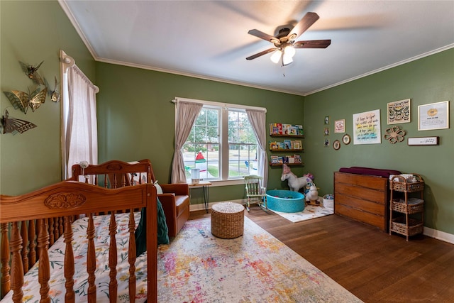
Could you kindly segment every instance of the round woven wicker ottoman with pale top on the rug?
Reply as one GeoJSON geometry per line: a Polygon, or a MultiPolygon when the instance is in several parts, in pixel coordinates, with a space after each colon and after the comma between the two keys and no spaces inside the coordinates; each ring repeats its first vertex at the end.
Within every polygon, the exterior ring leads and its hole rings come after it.
{"type": "Polygon", "coordinates": [[[211,233],[224,239],[238,238],[244,230],[244,206],[219,202],[211,206],[211,233]]]}

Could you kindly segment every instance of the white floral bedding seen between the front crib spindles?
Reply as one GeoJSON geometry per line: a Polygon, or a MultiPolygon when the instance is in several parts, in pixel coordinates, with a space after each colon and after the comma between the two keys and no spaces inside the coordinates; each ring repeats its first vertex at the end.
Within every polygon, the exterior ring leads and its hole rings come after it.
{"type": "MultiPolygon", "coordinates": [[[[96,250],[96,302],[109,302],[109,216],[94,216],[95,250],[96,250]]],[[[118,263],[117,281],[118,298],[116,302],[129,302],[128,294],[128,220],[129,214],[116,214],[117,235],[116,246],[118,263]]],[[[135,213],[135,224],[140,221],[140,211],[135,213]]],[[[76,302],[87,302],[88,274],[87,274],[87,226],[88,218],[77,219],[72,224],[74,241],[74,292],[76,302]]],[[[65,242],[60,237],[49,249],[50,260],[50,302],[65,302],[65,242]]],[[[38,283],[38,263],[24,276],[23,302],[40,301],[40,285],[38,283]]],[[[147,290],[147,262],[146,252],[135,261],[136,294],[135,302],[146,301],[147,290]]],[[[6,294],[1,302],[12,302],[13,292],[6,294]]]]}

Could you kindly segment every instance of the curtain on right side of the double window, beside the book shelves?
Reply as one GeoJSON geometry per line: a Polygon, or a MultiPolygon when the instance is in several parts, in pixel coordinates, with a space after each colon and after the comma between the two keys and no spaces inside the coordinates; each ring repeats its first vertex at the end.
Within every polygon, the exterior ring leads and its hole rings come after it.
{"type": "Polygon", "coordinates": [[[255,137],[258,142],[258,175],[263,177],[263,187],[267,187],[268,183],[268,157],[267,157],[267,134],[266,134],[266,112],[246,109],[250,125],[253,127],[255,137]]]}

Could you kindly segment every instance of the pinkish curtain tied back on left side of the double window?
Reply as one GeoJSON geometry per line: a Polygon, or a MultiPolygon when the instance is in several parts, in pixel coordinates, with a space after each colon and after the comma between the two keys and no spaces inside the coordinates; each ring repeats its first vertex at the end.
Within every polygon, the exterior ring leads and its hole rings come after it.
{"type": "Polygon", "coordinates": [[[182,148],[203,104],[176,100],[175,152],[172,161],[172,183],[186,183],[182,148]]]}

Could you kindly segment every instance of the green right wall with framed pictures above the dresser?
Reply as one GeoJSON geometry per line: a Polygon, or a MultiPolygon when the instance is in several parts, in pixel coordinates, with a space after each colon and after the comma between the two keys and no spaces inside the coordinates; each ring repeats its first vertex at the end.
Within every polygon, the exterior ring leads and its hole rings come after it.
{"type": "MultiPolygon", "coordinates": [[[[340,167],[366,166],[416,172],[426,182],[425,226],[454,234],[454,49],[384,70],[375,75],[326,89],[305,97],[305,169],[316,176],[323,194],[333,193],[333,172],[340,167]],[[387,103],[411,99],[411,123],[396,124],[406,131],[405,141],[391,144],[383,139],[387,125],[387,103]],[[450,101],[450,128],[418,131],[418,106],[450,101]],[[343,133],[334,133],[333,123],[345,119],[346,131],[353,135],[353,114],[380,109],[382,143],[341,144],[343,133]],[[323,147],[324,117],[330,117],[331,141],[323,147]],[[408,146],[406,138],[439,136],[440,145],[408,146]]],[[[353,137],[352,137],[353,138],[353,137]]]]}

